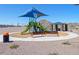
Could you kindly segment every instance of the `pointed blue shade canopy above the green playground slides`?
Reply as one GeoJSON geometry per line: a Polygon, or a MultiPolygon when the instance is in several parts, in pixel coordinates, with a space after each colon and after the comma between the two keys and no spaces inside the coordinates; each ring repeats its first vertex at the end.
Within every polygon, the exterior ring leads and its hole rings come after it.
{"type": "Polygon", "coordinates": [[[38,18],[38,17],[41,17],[41,16],[47,16],[46,14],[38,11],[37,9],[35,8],[32,8],[31,11],[27,12],[26,14],[20,16],[20,17],[32,17],[32,18],[38,18]]]}

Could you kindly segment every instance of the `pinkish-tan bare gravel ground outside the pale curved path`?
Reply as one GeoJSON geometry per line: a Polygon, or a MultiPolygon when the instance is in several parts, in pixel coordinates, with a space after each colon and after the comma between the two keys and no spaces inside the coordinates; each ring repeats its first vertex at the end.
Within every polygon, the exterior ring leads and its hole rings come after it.
{"type": "MultiPolygon", "coordinates": [[[[0,31],[2,33],[5,30],[0,29],[0,31]]],[[[15,32],[18,30],[9,28],[8,31],[15,32]]],[[[70,40],[46,42],[0,42],[0,55],[79,55],[79,37],[70,40]],[[19,47],[11,49],[10,46],[14,44],[19,45],[19,47]]]]}

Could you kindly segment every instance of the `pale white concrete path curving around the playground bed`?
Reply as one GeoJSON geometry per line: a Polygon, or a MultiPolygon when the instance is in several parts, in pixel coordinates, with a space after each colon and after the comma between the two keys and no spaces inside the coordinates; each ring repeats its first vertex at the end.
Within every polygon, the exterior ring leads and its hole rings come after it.
{"type": "MultiPolygon", "coordinates": [[[[78,34],[73,32],[67,32],[67,36],[59,37],[28,37],[28,38],[16,38],[10,36],[10,41],[56,41],[56,40],[66,40],[78,37],[78,34]]],[[[3,41],[3,36],[0,35],[0,42],[3,41]]]]}

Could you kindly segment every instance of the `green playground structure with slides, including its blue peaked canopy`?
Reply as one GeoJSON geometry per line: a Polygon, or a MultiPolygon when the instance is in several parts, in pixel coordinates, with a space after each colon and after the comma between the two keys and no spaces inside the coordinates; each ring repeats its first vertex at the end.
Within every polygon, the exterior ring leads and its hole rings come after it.
{"type": "Polygon", "coordinates": [[[37,29],[40,31],[47,31],[46,28],[44,28],[40,23],[36,21],[38,17],[46,16],[45,14],[39,12],[37,9],[32,8],[32,10],[25,15],[22,15],[20,17],[29,17],[29,24],[26,26],[26,29],[22,33],[30,32],[30,29],[33,28],[33,32],[38,32],[37,29]]]}

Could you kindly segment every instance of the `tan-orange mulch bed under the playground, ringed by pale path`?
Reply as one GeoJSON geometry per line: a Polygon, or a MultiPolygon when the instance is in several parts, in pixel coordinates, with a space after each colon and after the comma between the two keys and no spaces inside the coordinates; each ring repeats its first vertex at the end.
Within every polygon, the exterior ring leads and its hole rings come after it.
{"type": "Polygon", "coordinates": [[[33,32],[33,33],[27,33],[22,35],[21,33],[13,33],[10,36],[12,37],[19,37],[19,38],[27,38],[27,37],[33,37],[33,35],[43,35],[46,37],[57,37],[57,36],[66,36],[67,33],[64,32],[33,32]]]}

